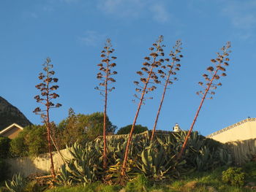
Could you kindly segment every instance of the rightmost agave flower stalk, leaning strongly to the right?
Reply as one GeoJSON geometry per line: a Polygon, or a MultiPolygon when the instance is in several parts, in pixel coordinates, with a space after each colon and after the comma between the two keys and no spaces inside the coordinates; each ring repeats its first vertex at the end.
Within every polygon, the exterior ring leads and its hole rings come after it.
{"type": "Polygon", "coordinates": [[[213,63],[213,66],[209,66],[207,68],[207,71],[210,74],[203,74],[203,77],[206,80],[206,83],[203,82],[198,82],[198,84],[200,86],[203,87],[203,91],[198,91],[197,95],[201,96],[201,101],[200,101],[200,105],[197,109],[197,112],[195,114],[195,118],[189,128],[189,132],[187,133],[187,137],[184,140],[184,144],[181,147],[181,151],[180,153],[178,153],[178,159],[181,158],[182,153],[184,152],[184,149],[187,145],[187,141],[189,139],[189,136],[192,132],[192,129],[195,125],[195,121],[197,120],[198,114],[201,110],[201,107],[203,106],[203,101],[205,101],[205,99],[213,99],[212,96],[209,98],[206,98],[206,96],[208,96],[208,94],[210,95],[214,95],[215,91],[212,90],[216,90],[218,86],[221,86],[222,83],[221,82],[214,82],[214,81],[219,81],[220,76],[227,76],[227,74],[225,74],[225,66],[228,66],[228,61],[230,61],[229,58],[227,58],[227,56],[229,56],[229,53],[231,52],[229,50],[229,48],[231,47],[230,42],[227,42],[227,44],[225,46],[223,46],[221,48],[222,54],[217,53],[217,58],[216,59],[211,59],[211,62],[213,63]],[[222,74],[218,74],[218,72],[222,72],[222,74]]]}

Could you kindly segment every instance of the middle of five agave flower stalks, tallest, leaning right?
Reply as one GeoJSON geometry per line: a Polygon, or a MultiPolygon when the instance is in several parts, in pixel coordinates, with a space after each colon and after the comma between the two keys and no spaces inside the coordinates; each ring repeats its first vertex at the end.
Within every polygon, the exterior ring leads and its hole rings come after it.
{"type": "Polygon", "coordinates": [[[135,99],[138,99],[139,103],[138,103],[138,108],[135,114],[135,118],[133,120],[132,123],[132,128],[131,131],[129,132],[129,137],[127,140],[127,147],[124,153],[124,162],[123,162],[123,166],[121,169],[121,176],[125,176],[125,172],[126,172],[126,166],[127,166],[127,158],[128,158],[128,153],[129,153],[129,145],[132,139],[132,132],[135,128],[135,124],[138,118],[138,114],[140,112],[140,107],[142,104],[145,104],[144,101],[146,99],[152,99],[151,97],[146,98],[146,94],[154,91],[157,87],[154,86],[154,84],[158,84],[160,83],[160,81],[158,80],[157,77],[157,73],[154,72],[154,69],[157,69],[159,66],[162,65],[163,60],[159,59],[157,61],[157,58],[159,58],[160,55],[164,55],[163,49],[162,47],[164,47],[164,45],[161,45],[163,40],[163,37],[160,36],[159,39],[157,40],[156,43],[153,44],[153,47],[150,47],[149,50],[151,50],[150,56],[149,57],[145,57],[144,59],[146,60],[146,62],[143,63],[143,67],[141,68],[141,71],[138,71],[137,74],[140,75],[140,82],[135,81],[135,85],[138,86],[138,88],[135,88],[135,91],[138,92],[138,94],[140,94],[140,96],[138,96],[137,94],[135,94],[135,99]],[[149,84],[153,84],[151,85],[151,87],[148,87],[149,84]]]}

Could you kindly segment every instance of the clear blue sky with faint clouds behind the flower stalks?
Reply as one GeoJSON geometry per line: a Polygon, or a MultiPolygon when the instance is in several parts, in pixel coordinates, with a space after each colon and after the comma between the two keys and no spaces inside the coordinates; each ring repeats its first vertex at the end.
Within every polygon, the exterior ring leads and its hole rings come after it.
{"type": "MultiPolygon", "coordinates": [[[[59,123],[69,107],[77,113],[103,111],[94,90],[97,64],[105,39],[116,49],[116,90],[110,93],[108,116],[120,128],[131,124],[134,80],[148,47],[165,37],[165,53],[177,39],[183,42],[178,81],[167,91],[158,127],[171,130],[179,123],[188,129],[200,98],[197,82],[217,51],[230,41],[233,51],[227,77],[213,100],[206,100],[195,130],[207,135],[248,116],[255,118],[256,1],[236,0],[1,0],[0,96],[18,107],[32,123],[33,99],[45,58],[50,57],[59,77],[59,102],[51,120],[59,123]]],[[[152,128],[162,88],[146,101],[138,123],[152,128]]]]}

